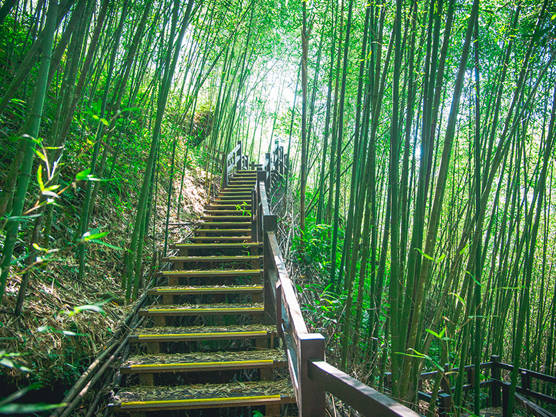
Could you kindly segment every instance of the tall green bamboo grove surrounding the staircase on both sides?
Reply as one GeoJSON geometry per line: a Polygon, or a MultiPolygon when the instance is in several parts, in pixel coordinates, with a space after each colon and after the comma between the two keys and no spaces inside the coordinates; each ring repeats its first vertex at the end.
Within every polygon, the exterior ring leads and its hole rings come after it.
{"type": "MultiPolygon", "coordinates": [[[[553,1],[20,0],[0,21],[0,294],[16,259],[19,312],[54,250],[88,273],[115,195],[136,298],[157,204],[166,236],[179,220],[158,184],[201,143],[208,178],[236,140],[256,156],[280,138],[284,221],[345,370],[381,389],[391,372],[409,404],[445,363],[556,371],[553,1]]],[[[463,373],[443,382],[459,414],[463,373]]]]}

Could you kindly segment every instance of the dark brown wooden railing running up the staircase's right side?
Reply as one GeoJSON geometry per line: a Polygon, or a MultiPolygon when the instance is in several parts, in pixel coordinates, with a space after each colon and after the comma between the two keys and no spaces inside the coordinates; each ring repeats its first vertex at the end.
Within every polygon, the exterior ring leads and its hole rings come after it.
{"type": "Polygon", "coordinates": [[[252,240],[263,242],[265,322],[275,324],[284,341],[295,399],[301,417],[325,416],[325,391],[366,417],[418,417],[366,384],[325,361],[325,338],[310,333],[288,277],[277,240],[277,216],[268,193],[284,181],[288,158],[278,143],[266,154],[252,191],[252,240]]]}

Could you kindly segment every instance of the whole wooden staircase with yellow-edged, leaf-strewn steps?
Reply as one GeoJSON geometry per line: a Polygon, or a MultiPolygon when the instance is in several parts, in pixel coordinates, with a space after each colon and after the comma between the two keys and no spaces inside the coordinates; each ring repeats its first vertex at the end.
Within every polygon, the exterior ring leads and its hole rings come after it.
{"type": "Polygon", "coordinates": [[[262,244],[251,239],[255,181],[256,171],[238,171],[192,243],[170,246],[179,256],[163,259],[174,265],[160,272],[167,286],[148,291],[161,304],[139,311],[150,325],[129,336],[136,353],[120,368],[126,387],[113,394],[113,412],[279,416],[281,404],[295,402],[276,326],[264,322],[262,244]]]}

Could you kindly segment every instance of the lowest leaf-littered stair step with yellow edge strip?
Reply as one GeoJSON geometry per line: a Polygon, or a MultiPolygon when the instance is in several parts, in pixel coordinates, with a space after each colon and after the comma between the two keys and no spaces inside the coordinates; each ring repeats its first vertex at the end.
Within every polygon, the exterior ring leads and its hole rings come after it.
{"type": "Polygon", "coordinates": [[[295,402],[288,380],[152,386],[120,389],[108,407],[114,411],[248,407],[295,402]]]}

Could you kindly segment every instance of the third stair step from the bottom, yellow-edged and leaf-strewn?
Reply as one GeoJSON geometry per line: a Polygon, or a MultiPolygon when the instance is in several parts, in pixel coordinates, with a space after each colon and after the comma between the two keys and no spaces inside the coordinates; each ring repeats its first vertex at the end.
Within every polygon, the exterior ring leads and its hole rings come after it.
{"type": "Polygon", "coordinates": [[[136,329],[129,336],[130,343],[145,342],[190,342],[206,340],[236,340],[273,338],[276,326],[191,326],[191,327],[149,327],[136,329]]]}

